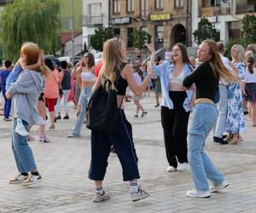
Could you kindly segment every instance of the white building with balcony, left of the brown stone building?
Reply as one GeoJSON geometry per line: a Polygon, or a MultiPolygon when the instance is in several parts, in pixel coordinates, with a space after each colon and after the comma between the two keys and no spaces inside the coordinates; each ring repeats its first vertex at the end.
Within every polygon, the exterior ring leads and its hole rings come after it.
{"type": "Polygon", "coordinates": [[[109,1],[84,0],[83,2],[83,43],[90,49],[90,37],[96,27],[108,27],[109,1]]]}

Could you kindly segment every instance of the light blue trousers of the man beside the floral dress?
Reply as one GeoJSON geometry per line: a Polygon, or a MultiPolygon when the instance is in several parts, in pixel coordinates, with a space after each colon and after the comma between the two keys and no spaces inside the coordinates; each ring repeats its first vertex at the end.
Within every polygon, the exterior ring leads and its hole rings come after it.
{"type": "Polygon", "coordinates": [[[227,86],[224,84],[219,84],[218,90],[219,90],[219,101],[217,103],[218,119],[213,132],[214,132],[214,136],[218,138],[222,138],[222,135],[225,130],[226,118],[227,118],[227,112],[228,112],[228,91],[227,91],[227,86]]]}

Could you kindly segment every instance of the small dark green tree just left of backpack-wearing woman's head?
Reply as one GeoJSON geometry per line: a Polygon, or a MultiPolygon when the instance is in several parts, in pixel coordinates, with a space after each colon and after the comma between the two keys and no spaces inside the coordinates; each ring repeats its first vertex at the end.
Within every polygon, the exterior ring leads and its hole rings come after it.
{"type": "Polygon", "coordinates": [[[110,27],[99,27],[95,34],[90,37],[90,45],[93,49],[102,51],[103,43],[113,37],[113,31],[110,27]]]}

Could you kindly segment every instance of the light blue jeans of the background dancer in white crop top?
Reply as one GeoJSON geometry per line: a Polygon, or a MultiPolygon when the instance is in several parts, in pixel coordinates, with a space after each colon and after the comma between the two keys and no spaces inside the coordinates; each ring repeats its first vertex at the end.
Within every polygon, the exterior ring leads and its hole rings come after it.
{"type": "Polygon", "coordinates": [[[90,100],[90,96],[91,96],[91,89],[92,89],[91,86],[81,89],[81,94],[79,97],[79,104],[81,105],[82,108],[81,108],[81,112],[80,112],[79,116],[76,119],[73,129],[71,131],[72,135],[75,135],[75,136],[80,135],[80,132],[82,130],[82,125],[84,124],[85,108],[86,108],[87,103],[90,100]]]}

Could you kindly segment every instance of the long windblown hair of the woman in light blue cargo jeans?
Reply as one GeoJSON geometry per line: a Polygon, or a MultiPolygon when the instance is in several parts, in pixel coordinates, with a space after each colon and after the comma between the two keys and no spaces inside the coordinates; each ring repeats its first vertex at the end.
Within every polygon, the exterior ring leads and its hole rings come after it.
{"type": "Polygon", "coordinates": [[[209,46],[209,55],[210,58],[207,60],[212,66],[212,71],[215,76],[218,76],[221,79],[224,79],[227,82],[237,82],[238,78],[234,76],[222,62],[217,43],[211,39],[204,40],[202,43],[207,43],[209,46]]]}

